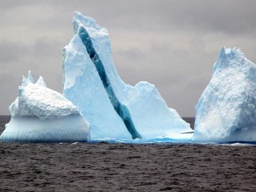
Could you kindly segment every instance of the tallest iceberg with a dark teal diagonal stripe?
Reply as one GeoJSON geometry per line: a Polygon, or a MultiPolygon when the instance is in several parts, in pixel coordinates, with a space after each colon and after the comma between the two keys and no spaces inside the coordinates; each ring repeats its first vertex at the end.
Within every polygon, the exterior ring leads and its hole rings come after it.
{"type": "MultiPolygon", "coordinates": [[[[189,124],[170,109],[154,85],[125,84],[111,56],[107,29],[75,12],[75,36],[63,50],[63,95],[80,107],[92,139],[185,138],[189,124]]],[[[132,74],[131,74],[132,75],[132,74]]]]}

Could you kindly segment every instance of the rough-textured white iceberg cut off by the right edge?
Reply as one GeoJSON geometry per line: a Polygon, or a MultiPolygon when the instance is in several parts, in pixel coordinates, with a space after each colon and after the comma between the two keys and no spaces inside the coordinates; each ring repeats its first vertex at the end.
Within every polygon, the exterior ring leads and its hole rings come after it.
{"type": "Polygon", "coordinates": [[[196,105],[193,142],[256,142],[256,65],[222,48],[196,105]]]}

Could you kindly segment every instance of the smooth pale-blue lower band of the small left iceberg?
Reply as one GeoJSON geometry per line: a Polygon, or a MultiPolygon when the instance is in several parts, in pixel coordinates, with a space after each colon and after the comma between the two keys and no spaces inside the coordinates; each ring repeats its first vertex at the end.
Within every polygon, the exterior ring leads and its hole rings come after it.
{"type": "Polygon", "coordinates": [[[80,114],[54,119],[15,116],[6,124],[0,140],[19,143],[87,142],[90,140],[90,124],[80,114]]]}

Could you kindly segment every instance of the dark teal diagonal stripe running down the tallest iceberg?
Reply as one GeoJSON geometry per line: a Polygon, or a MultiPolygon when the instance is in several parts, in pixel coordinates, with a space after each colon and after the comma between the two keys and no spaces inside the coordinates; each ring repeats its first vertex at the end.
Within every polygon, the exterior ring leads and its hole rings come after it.
{"type": "Polygon", "coordinates": [[[82,43],[85,45],[87,53],[90,55],[92,63],[94,63],[95,68],[100,75],[100,79],[102,80],[107,95],[109,96],[110,101],[114,107],[114,110],[124,121],[124,124],[127,127],[129,133],[132,134],[132,139],[142,139],[142,136],[137,132],[136,128],[134,127],[134,123],[132,122],[132,118],[128,108],[125,105],[122,105],[114,94],[114,90],[112,88],[110,80],[107,77],[102,60],[100,60],[99,55],[97,55],[95,51],[95,48],[93,48],[92,41],[90,40],[90,36],[85,28],[80,27],[78,35],[80,36],[82,43]]]}

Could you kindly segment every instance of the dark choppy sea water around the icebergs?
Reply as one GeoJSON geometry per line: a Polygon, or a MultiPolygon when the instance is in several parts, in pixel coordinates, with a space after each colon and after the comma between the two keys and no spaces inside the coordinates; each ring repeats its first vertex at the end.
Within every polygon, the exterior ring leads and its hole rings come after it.
{"type": "Polygon", "coordinates": [[[0,143],[0,191],[256,191],[256,146],[0,143]]]}

